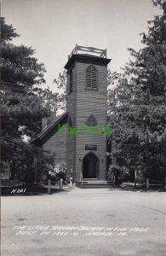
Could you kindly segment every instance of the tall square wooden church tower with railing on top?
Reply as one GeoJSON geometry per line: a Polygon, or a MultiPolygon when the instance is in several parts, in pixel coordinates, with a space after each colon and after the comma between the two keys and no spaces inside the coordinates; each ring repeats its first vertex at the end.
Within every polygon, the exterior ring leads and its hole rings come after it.
{"type": "Polygon", "coordinates": [[[106,179],[106,50],[76,46],[66,63],[66,163],[75,180],[106,179]],[[80,54],[82,52],[82,54],[80,54]]]}

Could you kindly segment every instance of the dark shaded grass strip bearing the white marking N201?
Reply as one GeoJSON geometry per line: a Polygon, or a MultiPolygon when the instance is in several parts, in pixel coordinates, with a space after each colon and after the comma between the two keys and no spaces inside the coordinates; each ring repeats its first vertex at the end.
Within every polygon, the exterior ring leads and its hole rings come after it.
{"type": "Polygon", "coordinates": [[[51,194],[48,194],[48,188],[40,183],[26,183],[15,186],[3,186],[1,195],[3,196],[31,196],[31,195],[54,195],[66,190],[52,188],[51,194]]]}

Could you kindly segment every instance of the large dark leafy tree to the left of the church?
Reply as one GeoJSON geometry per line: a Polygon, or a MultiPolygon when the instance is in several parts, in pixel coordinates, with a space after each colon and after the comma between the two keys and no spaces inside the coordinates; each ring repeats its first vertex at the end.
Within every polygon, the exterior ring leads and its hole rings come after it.
{"type": "Polygon", "coordinates": [[[41,131],[43,117],[56,114],[57,95],[40,88],[40,84],[45,83],[46,71],[43,63],[33,56],[35,50],[10,43],[19,35],[4,18],[1,18],[1,30],[1,147],[4,152],[1,163],[9,162],[23,177],[31,169],[28,161],[31,162],[33,151],[24,139],[35,137],[41,131]]]}

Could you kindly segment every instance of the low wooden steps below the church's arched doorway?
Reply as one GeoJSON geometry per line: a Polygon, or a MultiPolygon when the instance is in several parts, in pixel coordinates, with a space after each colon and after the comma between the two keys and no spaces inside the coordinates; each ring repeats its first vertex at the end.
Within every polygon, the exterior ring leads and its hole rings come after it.
{"type": "Polygon", "coordinates": [[[100,188],[110,188],[114,185],[113,181],[97,180],[97,179],[83,179],[82,181],[77,181],[76,186],[82,189],[100,189],[100,188]]]}

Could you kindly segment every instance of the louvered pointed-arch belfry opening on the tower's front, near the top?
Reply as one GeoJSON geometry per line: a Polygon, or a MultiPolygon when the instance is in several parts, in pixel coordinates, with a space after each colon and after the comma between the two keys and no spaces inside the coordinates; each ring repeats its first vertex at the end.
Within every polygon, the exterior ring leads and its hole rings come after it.
{"type": "Polygon", "coordinates": [[[97,69],[93,65],[87,68],[86,88],[89,90],[97,90],[97,69]]]}

